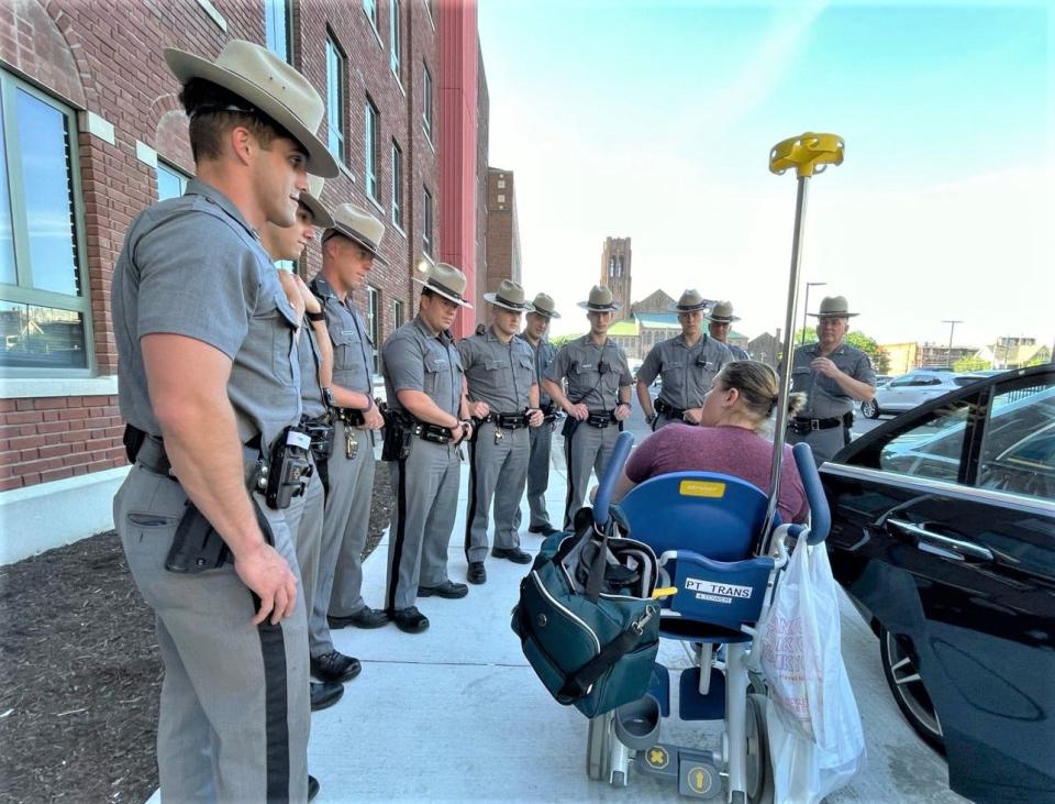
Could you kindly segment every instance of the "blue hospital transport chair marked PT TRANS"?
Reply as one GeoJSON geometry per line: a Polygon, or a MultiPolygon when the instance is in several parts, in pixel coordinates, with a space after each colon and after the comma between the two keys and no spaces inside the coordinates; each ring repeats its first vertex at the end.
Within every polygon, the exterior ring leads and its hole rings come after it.
{"type": "MultiPolygon", "coordinates": [[[[788,562],[786,541],[820,544],[831,525],[809,445],[796,444],[792,452],[809,500],[810,527],[777,522],[768,540],[762,538],[768,497],[730,475],[660,475],[618,504],[629,536],[659,557],[659,636],[680,640],[691,667],[677,671],[656,662],[643,698],[590,719],[591,779],[622,786],[634,766],[637,773],[676,782],[689,797],[722,797],[733,804],[771,801],[766,686],[752,669],[757,667],[752,662],[755,626],[788,562]],[[767,542],[766,554],[757,555],[767,542]],[[718,750],[660,740],[663,718],[671,716],[671,678],[678,673],[677,716],[682,722],[722,722],[718,750]]],[[[601,484],[596,508],[608,506],[600,497],[609,487],[601,484]]]]}

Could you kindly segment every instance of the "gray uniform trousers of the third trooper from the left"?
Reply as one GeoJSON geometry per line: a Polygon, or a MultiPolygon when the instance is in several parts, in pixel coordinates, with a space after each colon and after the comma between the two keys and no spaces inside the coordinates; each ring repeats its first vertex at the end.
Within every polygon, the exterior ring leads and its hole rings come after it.
{"type": "MultiPolygon", "coordinates": [[[[333,517],[333,533],[324,539],[332,554],[324,557],[332,569],[322,601],[334,617],[358,614],[363,601],[363,550],[370,532],[370,507],[374,502],[374,431],[352,428],[359,449],[351,461],[345,453],[345,425],[336,423],[333,454],[330,455],[330,497],[326,500],[326,524],[333,517]],[[334,475],[337,475],[335,478],[334,475]]],[[[326,614],[323,610],[323,616],[326,614]]]]}

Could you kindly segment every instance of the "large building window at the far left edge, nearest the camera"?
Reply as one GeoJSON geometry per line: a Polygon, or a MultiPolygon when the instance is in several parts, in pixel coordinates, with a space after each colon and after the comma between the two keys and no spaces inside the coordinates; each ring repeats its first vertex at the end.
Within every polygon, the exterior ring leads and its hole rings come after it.
{"type": "Polygon", "coordinates": [[[84,374],[91,306],[73,112],[0,70],[0,368],[84,374]]]}

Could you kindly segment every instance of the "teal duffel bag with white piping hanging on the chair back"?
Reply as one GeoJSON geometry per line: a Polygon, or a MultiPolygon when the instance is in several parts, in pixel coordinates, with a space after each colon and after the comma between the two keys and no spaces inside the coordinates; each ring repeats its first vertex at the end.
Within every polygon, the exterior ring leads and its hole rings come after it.
{"type": "Polygon", "coordinates": [[[648,687],[659,650],[657,563],[647,544],[601,533],[588,517],[576,525],[543,542],[512,628],[549,693],[595,717],[648,687]]]}

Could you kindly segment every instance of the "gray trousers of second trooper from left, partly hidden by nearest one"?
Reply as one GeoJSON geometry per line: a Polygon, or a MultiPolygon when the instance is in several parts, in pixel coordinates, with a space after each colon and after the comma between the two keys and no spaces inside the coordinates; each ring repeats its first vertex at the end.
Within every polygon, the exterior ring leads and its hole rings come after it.
{"type": "Polygon", "coordinates": [[[316,615],[319,598],[322,594],[320,581],[324,563],[322,554],[323,510],[325,498],[322,480],[318,469],[308,482],[308,488],[299,497],[293,497],[286,509],[286,524],[297,549],[297,563],[300,564],[300,587],[304,595],[308,613],[308,649],[312,657],[320,657],[333,650],[326,612],[316,615]]]}

